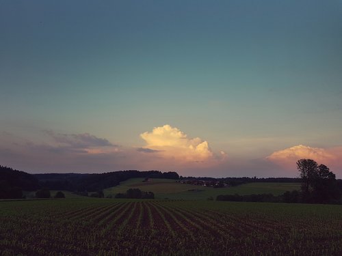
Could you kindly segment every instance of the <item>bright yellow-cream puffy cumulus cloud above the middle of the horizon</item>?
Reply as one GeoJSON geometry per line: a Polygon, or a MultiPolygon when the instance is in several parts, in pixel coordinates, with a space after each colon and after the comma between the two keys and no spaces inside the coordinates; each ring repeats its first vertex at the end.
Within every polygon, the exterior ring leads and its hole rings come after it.
{"type": "Polygon", "coordinates": [[[187,134],[168,124],[144,132],[140,137],[146,142],[144,149],[159,151],[163,158],[186,162],[205,162],[213,158],[207,141],[189,138],[187,134]]]}

